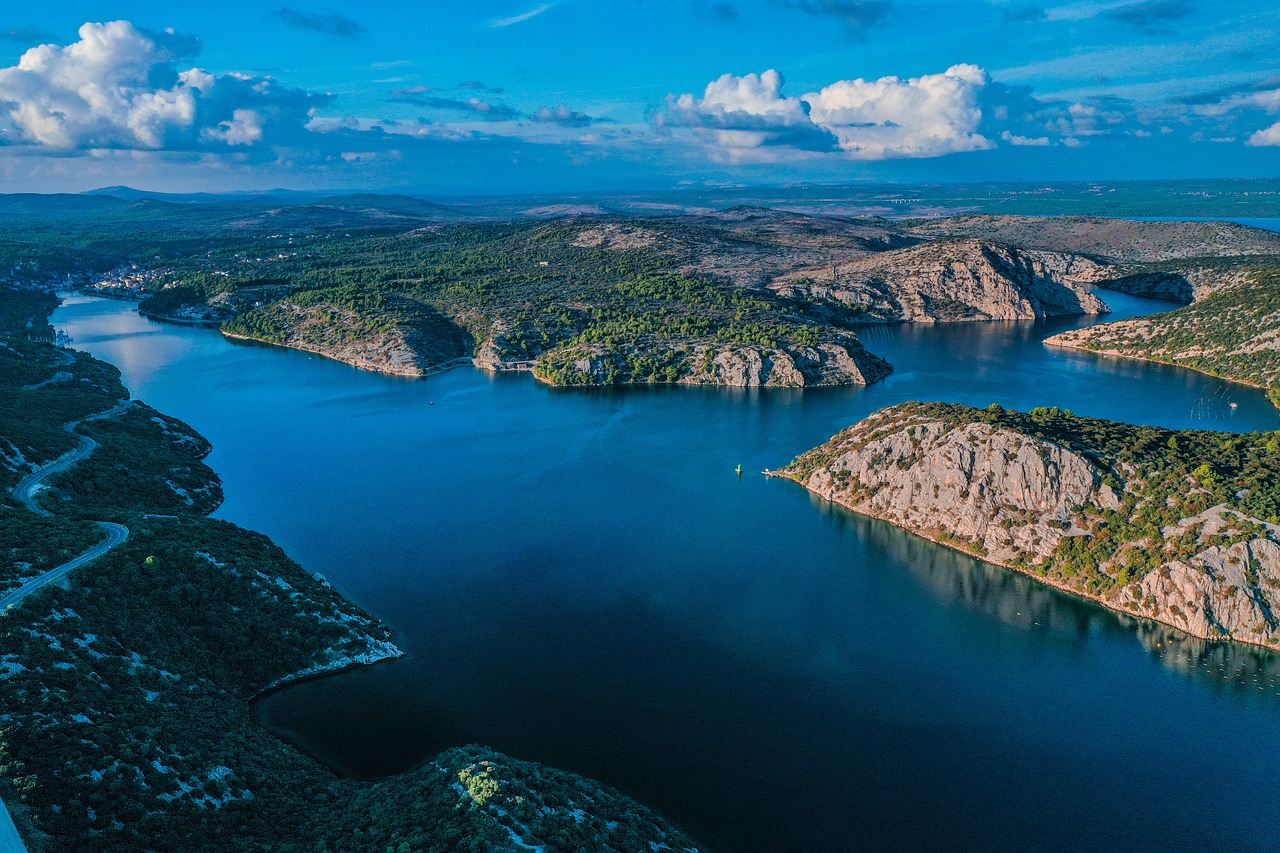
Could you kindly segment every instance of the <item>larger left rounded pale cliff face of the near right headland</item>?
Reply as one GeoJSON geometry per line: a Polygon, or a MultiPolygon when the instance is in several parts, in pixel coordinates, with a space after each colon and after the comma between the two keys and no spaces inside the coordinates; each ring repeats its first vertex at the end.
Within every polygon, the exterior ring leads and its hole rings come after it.
{"type": "Polygon", "coordinates": [[[804,485],[997,562],[1047,558],[1100,488],[1082,456],[987,424],[913,423],[860,443],[863,434],[831,448],[837,455],[804,485]]]}

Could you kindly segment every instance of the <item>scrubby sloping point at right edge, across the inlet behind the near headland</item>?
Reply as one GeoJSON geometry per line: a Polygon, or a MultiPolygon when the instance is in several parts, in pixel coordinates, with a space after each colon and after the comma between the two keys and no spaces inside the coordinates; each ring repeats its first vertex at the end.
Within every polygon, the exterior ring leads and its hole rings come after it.
{"type": "Polygon", "coordinates": [[[1176,311],[1073,329],[1044,343],[1192,368],[1267,388],[1280,405],[1280,270],[1242,269],[1176,311]]]}

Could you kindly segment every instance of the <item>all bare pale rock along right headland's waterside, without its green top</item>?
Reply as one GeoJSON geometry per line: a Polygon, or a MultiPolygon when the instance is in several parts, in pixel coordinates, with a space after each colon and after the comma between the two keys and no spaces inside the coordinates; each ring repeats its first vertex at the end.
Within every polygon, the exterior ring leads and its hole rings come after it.
{"type": "Polygon", "coordinates": [[[1130,579],[1123,555],[1153,544],[1135,539],[1096,567],[1094,578],[1110,578],[1110,585],[1059,571],[1066,539],[1092,535],[1108,512],[1129,512],[1144,498],[1116,494],[1094,461],[1053,442],[983,421],[947,421],[906,403],[870,415],[773,475],[1112,610],[1202,639],[1280,646],[1280,525],[1225,506],[1165,529],[1169,540],[1194,532],[1192,556],[1165,552],[1138,564],[1143,569],[1130,579]]]}

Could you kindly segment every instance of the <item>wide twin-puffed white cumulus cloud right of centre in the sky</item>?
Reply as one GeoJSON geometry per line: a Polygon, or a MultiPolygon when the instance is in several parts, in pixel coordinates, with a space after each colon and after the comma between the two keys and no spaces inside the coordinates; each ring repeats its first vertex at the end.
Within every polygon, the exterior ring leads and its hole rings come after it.
{"type": "Polygon", "coordinates": [[[980,151],[987,73],[954,65],[902,79],[845,79],[800,97],[782,93],[782,74],[724,74],[701,97],[668,96],[662,128],[687,128],[730,160],[760,160],[762,150],[840,151],[856,160],[933,158],[980,151]],[[750,156],[748,156],[750,155],[750,156]]]}

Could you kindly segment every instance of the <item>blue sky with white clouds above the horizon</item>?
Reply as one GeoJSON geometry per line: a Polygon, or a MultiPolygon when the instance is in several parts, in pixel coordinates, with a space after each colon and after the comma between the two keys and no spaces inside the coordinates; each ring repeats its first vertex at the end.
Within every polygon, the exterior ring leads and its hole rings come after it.
{"type": "Polygon", "coordinates": [[[1280,177],[1275,0],[58,0],[0,191],[1280,177]]]}

